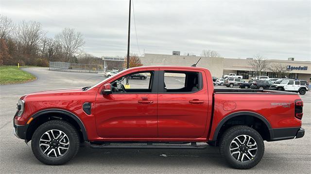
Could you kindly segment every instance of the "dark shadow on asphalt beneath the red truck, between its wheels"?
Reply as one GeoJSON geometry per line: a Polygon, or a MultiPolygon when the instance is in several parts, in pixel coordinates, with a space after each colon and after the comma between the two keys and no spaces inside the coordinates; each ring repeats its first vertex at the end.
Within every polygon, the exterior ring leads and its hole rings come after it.
{"type": "MultiPolygon", "coordinates": [[[[228,167],[218,147],[208,146],[204,150],[175,149],[92,149],[82,146],[77,156],[69,163],[96,165],[139,166],[197,166],[211,165],[228,167]]],[[[79,164],[78,164],[79,165],[79,164]]]]}

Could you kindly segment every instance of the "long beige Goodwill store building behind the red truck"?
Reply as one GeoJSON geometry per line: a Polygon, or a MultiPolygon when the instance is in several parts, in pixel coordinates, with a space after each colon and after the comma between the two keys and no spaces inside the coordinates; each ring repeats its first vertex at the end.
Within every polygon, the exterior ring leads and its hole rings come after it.
{"type": "MultiPolygon", "coordinates": [[[[198,56],[179,56],[179,55],[160,55],[160,54],[145,54],[140,57],[144,66],[151,65],[170,65],[170,66],[191,66],[196,63],[199,58],[201,60],[197,64],[198,67],[209,69],[215,77],[221,77],[223,74],[236,73],[242,75],[244,79],[250,79],[255,76],[251,70],[247,59],[240,58],[207,58],[198,56]]],[[[301,80],[310,80],[311,78],[311,61],[294,61],[294,58],[288,60],[269,59],[269,66],[281,64],[287,67],[288,71],[278,77],[277,73],[266,70],[261,75],[277,78],[293,78],[301,80]]]]}

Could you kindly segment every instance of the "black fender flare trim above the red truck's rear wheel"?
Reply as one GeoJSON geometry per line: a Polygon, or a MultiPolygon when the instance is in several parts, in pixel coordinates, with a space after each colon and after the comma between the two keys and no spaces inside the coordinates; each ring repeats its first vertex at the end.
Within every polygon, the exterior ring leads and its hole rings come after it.
{"type": "Polygon", "coordinates": [[[265,123],[265,125],[267,126],[268,130],[271,129],[271,125],[270,125],[269,121],[264,116],[261,116],[261,115],[259,115],[257,113],[249,112],[249,111],[235,112],[235,113],[232,113],[232,114],[230,114],[228,116],[225,116],[218,123],[218,125],[217,125],[217,127],[215,129],[212,141],[217,141],[218,133],[219,133],[220,129],[223,127],[223,125],[225,124],[225,122],[228,121],[230,118],[233,118],[235,116],[254,116],[256,118],[259,118],[261,121],[263,121],[265,123]]]}

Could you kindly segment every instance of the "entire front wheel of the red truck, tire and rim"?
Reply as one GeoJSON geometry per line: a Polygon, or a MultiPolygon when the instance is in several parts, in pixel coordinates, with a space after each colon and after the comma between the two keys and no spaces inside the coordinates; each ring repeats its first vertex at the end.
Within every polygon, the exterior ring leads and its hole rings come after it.
{"type": "Polygon", "coordinates": [[[79,150],[76,129],[66,121],[52,120],[39,126],[32,137],[35,157],[48,165],[61,165],[71,160],[79,150]]]}

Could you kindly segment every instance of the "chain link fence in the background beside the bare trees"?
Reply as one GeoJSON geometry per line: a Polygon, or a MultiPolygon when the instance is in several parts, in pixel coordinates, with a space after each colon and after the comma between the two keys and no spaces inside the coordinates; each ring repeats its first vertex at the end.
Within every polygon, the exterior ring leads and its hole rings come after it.
{"type": "Polygon", "coordinates": [[[104,65],[50,62],[50,70],[66,72],[104,73],[104,65]]]}

